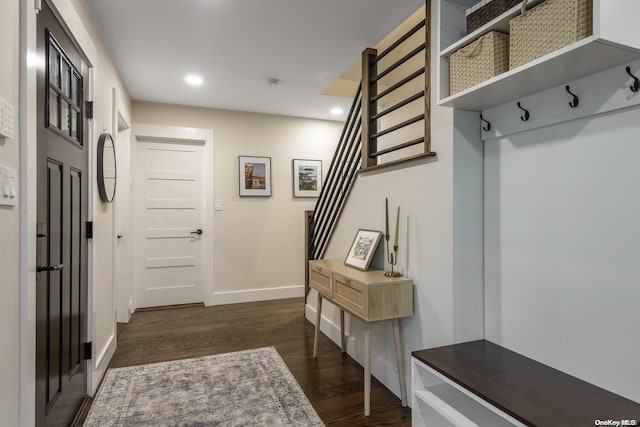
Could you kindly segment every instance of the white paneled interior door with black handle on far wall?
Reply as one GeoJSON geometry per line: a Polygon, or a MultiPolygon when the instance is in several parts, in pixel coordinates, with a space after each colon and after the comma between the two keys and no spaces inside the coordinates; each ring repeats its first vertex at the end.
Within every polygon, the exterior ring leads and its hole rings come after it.
{"type": "Polygon", "coordinates": [[[204,146],[138,138],[137,307],[202,302],[204,146]]]}

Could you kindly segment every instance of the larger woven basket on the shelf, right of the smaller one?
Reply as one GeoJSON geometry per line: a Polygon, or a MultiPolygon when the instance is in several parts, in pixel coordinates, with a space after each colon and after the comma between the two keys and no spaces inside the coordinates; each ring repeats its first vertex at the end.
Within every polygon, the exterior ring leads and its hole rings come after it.
{"type": "Polygon", "coordinates": [[[592,0],[546,0],[509,22],[513,69],[592,34],[592,0]]]}

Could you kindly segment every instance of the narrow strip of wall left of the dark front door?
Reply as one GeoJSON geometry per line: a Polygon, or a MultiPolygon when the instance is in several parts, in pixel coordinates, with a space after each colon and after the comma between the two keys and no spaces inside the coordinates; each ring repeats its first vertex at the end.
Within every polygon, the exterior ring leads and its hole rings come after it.
{"type": "MultiPolygon", "coordinates": [[[[18,171],[18,2],[0,0],[0,10],[0,97],[15,109],[14,138],[0,137],[0,165],[18,171]]],[[[0,419],[12,426],[18,425],[20,414],[19,215],[19,206],[0,206],[0,419]]]]}

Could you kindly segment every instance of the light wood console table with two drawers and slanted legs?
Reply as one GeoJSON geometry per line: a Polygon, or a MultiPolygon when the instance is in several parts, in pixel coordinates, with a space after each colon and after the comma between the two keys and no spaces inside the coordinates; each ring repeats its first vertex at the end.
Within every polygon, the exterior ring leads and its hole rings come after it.
{"type": "Polygon", "coordinates": [[[364,415],[371,413],[371,324],[391,321],[396,347],[402,406],[407,406],[407,388],[399,319],[413,315],[413,281],[406,277],[386,277],[381,270],[361,271],[342,260],[309,261],[309,286],[318,291],[313,357],[318,355],[322,300],[340,308],[340,344],[345,352],[344,312],[361,319],[364,332],[364,415]]]}

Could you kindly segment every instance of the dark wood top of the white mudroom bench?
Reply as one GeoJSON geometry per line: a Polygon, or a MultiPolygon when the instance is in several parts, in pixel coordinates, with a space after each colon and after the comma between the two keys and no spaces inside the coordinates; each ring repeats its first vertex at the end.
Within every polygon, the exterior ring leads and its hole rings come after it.
{"type": "Polygon", "coordinates": [[[486,340],[412,355],[527,425],[593,426],[595,420],[640,420],[640,404],[486,340]]]}

